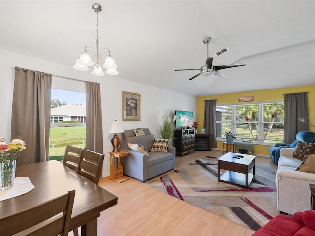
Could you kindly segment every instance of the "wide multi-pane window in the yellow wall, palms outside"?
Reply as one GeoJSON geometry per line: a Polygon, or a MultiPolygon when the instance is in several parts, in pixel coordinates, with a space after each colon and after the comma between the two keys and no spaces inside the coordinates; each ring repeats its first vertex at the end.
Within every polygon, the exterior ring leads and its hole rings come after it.
{"type": "Polygon", "coordinates": [[[216,134],[232,130],[239,139],[253,142],[284,141],[284,102],[217,105],[216,134]]]}

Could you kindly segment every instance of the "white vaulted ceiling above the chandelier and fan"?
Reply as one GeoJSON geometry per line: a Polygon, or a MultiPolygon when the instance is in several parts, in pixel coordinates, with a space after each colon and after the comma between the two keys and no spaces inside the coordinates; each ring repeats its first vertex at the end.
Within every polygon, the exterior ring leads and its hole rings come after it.
{"type": "Polygon", "coordinates": [[[1,0],[0,48],[73,66],[96,46],[94,2],[117,77],[194,96],[315,83],[314,0],[1,0]],[[204,65],[209,36],[213,65],[247,66],[220,70],[226,78],[175,72],[204,65]]]}

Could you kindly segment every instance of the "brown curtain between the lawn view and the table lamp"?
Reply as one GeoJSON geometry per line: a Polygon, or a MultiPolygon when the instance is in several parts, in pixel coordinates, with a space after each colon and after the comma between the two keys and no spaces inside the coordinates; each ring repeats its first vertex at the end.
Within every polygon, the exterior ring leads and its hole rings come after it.
{"type": "Polygon", "coordinates": [[[103,153],[102,106],[99,83],[85,82],[86,87],[86,144],[87,150],[103,153]]]}

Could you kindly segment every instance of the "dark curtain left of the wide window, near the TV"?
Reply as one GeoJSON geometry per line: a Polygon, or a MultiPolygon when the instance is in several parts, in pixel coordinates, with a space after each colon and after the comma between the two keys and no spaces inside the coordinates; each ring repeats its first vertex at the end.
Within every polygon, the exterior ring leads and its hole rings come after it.
{"type": "Polygon", "coordinates": [[[211,134],[211,147],[217,148],[216,135],[216,104],[217,100],[205,100],[205,115],[203,119],[207,134],[211,134]]]}

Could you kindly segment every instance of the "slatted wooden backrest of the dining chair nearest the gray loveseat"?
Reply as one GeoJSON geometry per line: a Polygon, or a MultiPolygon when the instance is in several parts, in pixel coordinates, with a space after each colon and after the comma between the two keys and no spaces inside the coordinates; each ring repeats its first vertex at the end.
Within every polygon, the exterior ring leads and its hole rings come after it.
{"type": "Polygon", "coordinates": [[[103,161],[104,154],[84,149],[81,152],[78,173],[98,184],[103,161]]]}

